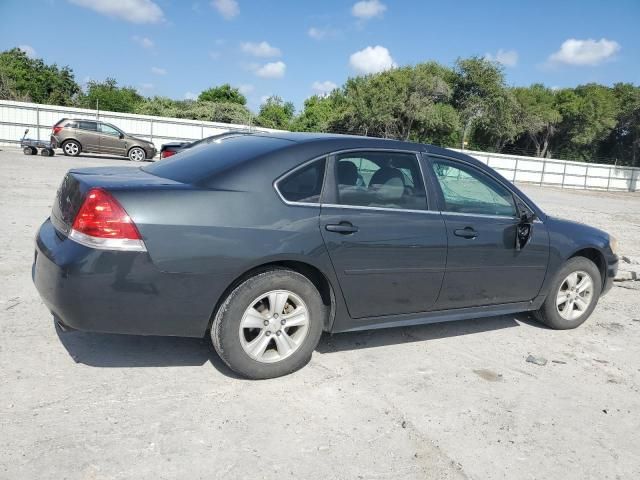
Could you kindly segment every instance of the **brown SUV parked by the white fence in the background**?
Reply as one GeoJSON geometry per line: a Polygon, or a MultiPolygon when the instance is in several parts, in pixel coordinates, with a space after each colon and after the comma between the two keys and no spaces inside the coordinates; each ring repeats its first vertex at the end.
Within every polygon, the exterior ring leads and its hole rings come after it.
{"type": "Polygon", "coordinates": [[[153,143],[97,120],[63,118],[53,126],[51,143],[54,148],[62,148],[65,155],[73,157],[80,152],[108,153],[142,162],[156,155],[153,143]]]}

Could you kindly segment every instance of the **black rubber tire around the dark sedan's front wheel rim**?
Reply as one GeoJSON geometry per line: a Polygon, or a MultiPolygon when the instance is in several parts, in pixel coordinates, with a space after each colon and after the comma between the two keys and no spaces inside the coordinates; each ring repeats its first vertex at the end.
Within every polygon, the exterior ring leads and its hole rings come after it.
{"type": "Polygon", "coordinates": [[[551,284],[551,289],[549,290],[547,298],[542,304],[542,307],[534,312],[534,316],[537,320],[544,323],[549,328],[553,328],[554,330],[569,330],[571,328],[576,328],[582,325],[593,313],[593,310],[598,304],[598,299],[600,298],[601,291],[602,276],[595,263],[585,257],[570,258],[556,274],[556,277],[551,284]],[[558,312],[558,307],[556,307],[556,298],[558,295],[558,291],[560,290],[560,287],[562,286],[567,276],[569,276],[573,272],[578,271],[586,272],[591,276],[591,279],[593,281],[591,303],[589,303],[587,309],[578,318],[574,320],[568,320],[563,318],[558,312]]]}

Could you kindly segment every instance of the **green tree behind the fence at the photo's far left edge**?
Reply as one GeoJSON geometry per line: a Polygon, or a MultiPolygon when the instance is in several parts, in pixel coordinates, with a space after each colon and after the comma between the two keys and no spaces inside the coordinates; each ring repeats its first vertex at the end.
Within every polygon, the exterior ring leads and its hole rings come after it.
{"type": "Polygon", "coordinates": [[[45,64],[18,48],[0,53],[0,95],[7,100],[72,105],[80,86],[69,67],[45,64]]]}

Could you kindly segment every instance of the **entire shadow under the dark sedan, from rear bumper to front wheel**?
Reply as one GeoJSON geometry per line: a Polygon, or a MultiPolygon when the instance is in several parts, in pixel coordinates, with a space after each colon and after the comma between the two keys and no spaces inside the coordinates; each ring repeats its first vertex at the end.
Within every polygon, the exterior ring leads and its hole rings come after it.
{"type": "MultiPolygon", "coordinates": [[[[55,322],[54,322],[55,323],[55,322]]],[[[521,323],[546,328],[526,314],[456,322],[433,323],[338,334],[324,334],[320,354],[426,342],[513,328],[521,323]]],[[[158,337],[63,331],[55,324],[60,342],[76,363],[100,368],[182,367],[210,363],[221,374],[240,378],[220,359],[208,337],[158,337]]]]}

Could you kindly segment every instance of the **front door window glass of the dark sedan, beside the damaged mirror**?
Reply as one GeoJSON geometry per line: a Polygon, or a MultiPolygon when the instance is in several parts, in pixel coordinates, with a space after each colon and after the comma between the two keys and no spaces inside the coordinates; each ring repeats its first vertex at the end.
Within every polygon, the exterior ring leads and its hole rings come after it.
{"type": "Polygon", "coordinates": [[[513,195],[500,183],[474,169],[447,161],[434,161],[442,189],[443,210],[453,213],[515,217],[513,195]]]}

